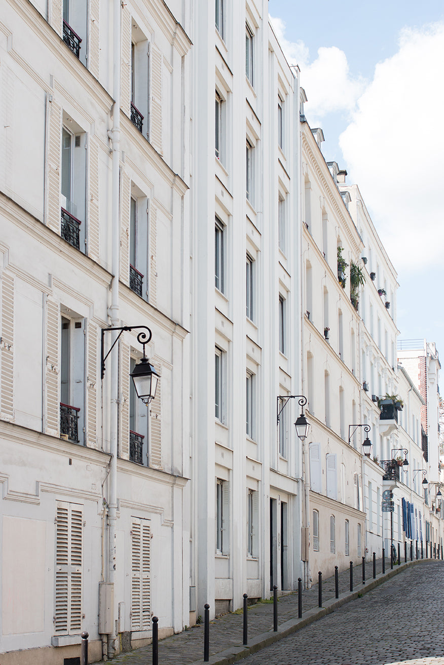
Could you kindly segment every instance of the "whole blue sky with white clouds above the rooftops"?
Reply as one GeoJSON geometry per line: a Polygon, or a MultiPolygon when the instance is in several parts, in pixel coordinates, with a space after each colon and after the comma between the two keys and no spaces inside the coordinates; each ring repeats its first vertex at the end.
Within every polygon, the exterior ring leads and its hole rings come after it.
{"type": "Polygon", "coordinates": [[[359,186],[397,271],[399,339],[436,342],[444,372],[444,2],[268,7],[324,157],[359,186]]]}

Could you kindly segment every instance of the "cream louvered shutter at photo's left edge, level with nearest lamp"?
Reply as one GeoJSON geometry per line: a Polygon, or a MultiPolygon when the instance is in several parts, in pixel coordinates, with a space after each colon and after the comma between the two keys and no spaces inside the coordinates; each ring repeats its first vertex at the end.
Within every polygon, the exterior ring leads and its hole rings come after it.
{"type": "Polygon", "coordinates": [[[1,385],[0,412],[3,420],[14,418],[14,278],[3,272],[1,275],[1,385]]]}

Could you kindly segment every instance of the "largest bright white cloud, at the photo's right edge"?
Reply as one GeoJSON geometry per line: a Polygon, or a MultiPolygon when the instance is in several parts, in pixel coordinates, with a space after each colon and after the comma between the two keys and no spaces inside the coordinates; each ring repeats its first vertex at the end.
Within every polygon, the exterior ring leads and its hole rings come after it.
{"type": "MultiPolygon", "coordinates": [[[[339,137],[395,267],[442,264],[444,24],[404,29],[339,137]]],[[[349,181],[351,182],[351,181],[349,181]]]]}

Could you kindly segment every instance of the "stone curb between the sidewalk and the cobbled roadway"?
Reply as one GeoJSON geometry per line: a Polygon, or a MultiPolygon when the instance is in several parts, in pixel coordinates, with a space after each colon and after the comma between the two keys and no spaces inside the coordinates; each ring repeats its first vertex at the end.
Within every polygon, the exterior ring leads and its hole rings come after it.
{"type": "Polygon", "coordinates": [[[357,600],[363,594],[379,587],[379,585],[392,577],[395,577],[395,575],[399,575],[399,573],[408,567],[423,563],[424,561],[428,561],[428,559],[414,559],[413,561],[407,561],[407,563],[401,563],[401,565],[394,567],[393,570],[389,569],[385,573],[379,573],[375,579],[372,577],[369,582],[365,582],[365,585],[361,584],[361,587],[358,587],[356,591],[353,591],[352,593],[346,591],[339,595],[339,598],[337,599],[332,598],[326,600],[322,608],[312,608],[311,610],[304,612],[302,618],[290,619],[283,624],[280,624],[280,626],[278,626],[278,632],[274,632],[274,630],[262,632],[251,638],[251,640],[248,640],[248,646],[243,646],[241,644],[238,646],[230,646],[228,649],[224,649],[218,654],[210,656],[210,660],[208,661],[194,660],[193,662],[188,663],[188,665],[205,665],[205,662],[208,662],[210,665],[232,665],[232,663],[238,662],[238,660],[242,660],[242,658],[247,658],[247,656],[251,656],[252,654],[256,654],[266,646],[270,646],[270,644],[274,644],[275,642],[282,640],[282,638],[293,634],[297,630],[322,619],[324,616],[327,616],[327,614],[332,614],[332,612],[346,602],[357,600]]]}

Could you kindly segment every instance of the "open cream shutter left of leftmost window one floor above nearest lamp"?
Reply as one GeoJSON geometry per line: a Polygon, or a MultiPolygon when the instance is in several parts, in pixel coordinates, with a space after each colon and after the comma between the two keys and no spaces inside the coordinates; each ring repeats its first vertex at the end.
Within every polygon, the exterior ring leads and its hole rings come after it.
{"type": "Polygon", "coordinates": [[[47,188],[45,209],[46,223],[50,229],[60,233],[60,188],[61,188],[61,148],[62,148],[62,109],[52,95],[47,97],[47,188]],[[52,99],[52,100],[51,100],[52,99]]]}

